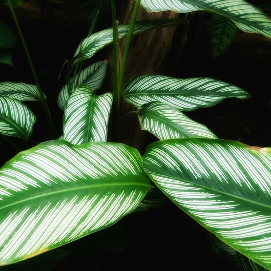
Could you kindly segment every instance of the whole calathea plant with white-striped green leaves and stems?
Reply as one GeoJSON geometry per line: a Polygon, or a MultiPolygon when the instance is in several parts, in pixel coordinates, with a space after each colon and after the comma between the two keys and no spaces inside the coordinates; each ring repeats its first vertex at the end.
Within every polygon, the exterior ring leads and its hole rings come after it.
{"type": "MultiPolygon", "coordinates": [[[[7,3],[27,50],[12,2],[7,3]]],[[[98,11],[103,4],[97,1],[98,11]]],[[[58,99],[64,111],[62,136],[19,152],[0,169],[0,264],[19,262],[109,227],[140,206],[157,186],[200,225],[241,253],[246,270],[250,263],[271,270],[270,148],[218,139],[183,113],[226,98],[247,99],[250,94],[205,77],[140,75],[124,84],[133,35],[186,23],[136,22],[140,4],[149,12],[206,11],[224,24],[271,37],[271,20],[244,0],[136,0],[131,22],[124,25],[117,25],[111,0],[112,28],[93,33],[92,27],[71,61],[58,99]],[[121,62],[117,43],[123,38],[127,41],[121,62]],[[83,62],[110,43],[112,93],[97,95],[107,63],[82,69],[83,62]],[[146,148],[143,157],[130,146],[106,142],[111,107],[115,124],[121,117],[121,98],[137,108],[142,129],[159,139],[146,148]]],[[[231,37],[218,27],[224,24],[217,24],[213,33],[222,39],[220,45],[231,37]]],[[[218,51],[226,48],[214,47],[218,51]]],[[[32,65],[29,55],[28,59],[32,65]]],[[[0,83],[3,137],[26,141],[31,136],[36,118],[23,101],[42,103],[53,134],[45,96],[34,69],[33,73],[36,85],[0,83]]],[[[118,126],[112,129],[115,142],[118,126]]]]}

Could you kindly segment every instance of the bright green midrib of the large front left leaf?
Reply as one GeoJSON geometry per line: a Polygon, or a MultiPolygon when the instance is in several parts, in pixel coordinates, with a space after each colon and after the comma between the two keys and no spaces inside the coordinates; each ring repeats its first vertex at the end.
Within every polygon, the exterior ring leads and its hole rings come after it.
{"type": "Polygon", "coordinates": [[[99,187],[113,187],[113,186],[128,186],[128,187],[138,186],[138,187],[151,188],[150,184],[148,185],[148,184],[142,184],[142,183],[139,184],[139,183],[129,183],[129,182],[116,182],[116,183],[86,185],[86,186],[81,186],[81,187],[76,187],[76,188],[62,189],[62,190],[58,190],[58,191],[54,191],[54,192],[40,194],[38,196],[34,196],[34,197],[31,197],[31,198],[28,198],[28,199],[20,200],[20,201],[5,205],[3,207],[0,207],[0,211],[5,209],[5,208],[20,205],[21,203],[24,203],[24,202],[29,202],[29,201],[32,201],[32,200],[35,200],[35,199],[44,198],[44,197],[48,197],[48,196],[55,195],[55,194],[62,194],[62,193],[65,193],[65,192],[71,192],[71,191],[83,190],[83,189],[91,189],[91,188],[99,188],[99,187]]]}

